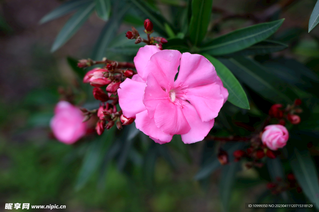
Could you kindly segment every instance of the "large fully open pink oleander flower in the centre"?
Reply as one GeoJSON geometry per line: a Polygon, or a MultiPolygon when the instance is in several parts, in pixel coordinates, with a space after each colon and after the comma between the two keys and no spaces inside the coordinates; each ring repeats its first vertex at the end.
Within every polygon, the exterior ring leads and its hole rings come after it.
{"type": "Polygon", "coordinates": [[[160,144],[174,134],[187,144],[203,140],[228,98],[211,62],[202,55],[146,45],[134,64],[137,74],[117,90],[123,115],[136,118],[136,127],[160,144]]]}

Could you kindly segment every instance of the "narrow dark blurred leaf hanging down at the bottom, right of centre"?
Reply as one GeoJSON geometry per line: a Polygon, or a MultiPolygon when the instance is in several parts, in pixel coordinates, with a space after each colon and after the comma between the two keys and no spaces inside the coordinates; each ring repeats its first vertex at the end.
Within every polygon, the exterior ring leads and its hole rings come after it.
{"type": "Polygon", "coordinates": [[[235,174],[239,169],[240,163],[233,162],[231,164],[223,166],[223,170],[220,177],[219,193],[221,202],[223,204],[224,211],[229,211],[229,200],[231,191],[235,182],[235,174]]]}

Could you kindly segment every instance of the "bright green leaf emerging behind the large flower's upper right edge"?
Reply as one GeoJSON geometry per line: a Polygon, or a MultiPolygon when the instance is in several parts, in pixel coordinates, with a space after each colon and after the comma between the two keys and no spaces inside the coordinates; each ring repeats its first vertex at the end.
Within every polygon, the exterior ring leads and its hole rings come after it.
{"type": "Polygon", "coordinates": [[[217,75],[228,90],[229,96],[227,100],[237,107],[250,109],[247,95],[233,73],[216,58],[208,54],[203,54],[203,56],[215,66],[217,75]]]}

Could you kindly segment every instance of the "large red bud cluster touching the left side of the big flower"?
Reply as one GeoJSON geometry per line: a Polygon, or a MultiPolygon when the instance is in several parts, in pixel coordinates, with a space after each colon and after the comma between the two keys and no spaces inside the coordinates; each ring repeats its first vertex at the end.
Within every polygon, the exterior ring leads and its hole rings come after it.
{"type": "Polygon", "coordinates": [[[78,67],[86,68],[96,64],[102,64],[103,67],[88,71],[83,78],[83,82],[94,86],[93,96],[102,103],[98,109],[87,110],[82,108],[81,110],[85,115],[83,121],[89,120],[92,115],[98,117],[99,120],[96,123],[95,130],[101,135],[105,129],[110,129],[114,125],[121,129],[122,125],[129,125],[134,121],[132,118],[127,119],[122,111],[117,112],[116,104],[118,103],[117,89],[120,84],[136,72],[130,69],[135,68],[132,63],[116,62],[107,58],[103,58],[101,61],[82,59],[79,60],[78,67]],[[102,87],[105,87],[106,92],[103,91],[102,87]]]}

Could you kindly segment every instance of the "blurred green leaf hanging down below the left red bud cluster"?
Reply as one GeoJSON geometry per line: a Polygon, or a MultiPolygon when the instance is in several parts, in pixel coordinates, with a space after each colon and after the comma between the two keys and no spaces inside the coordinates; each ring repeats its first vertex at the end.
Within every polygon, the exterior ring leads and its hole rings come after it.
{"type": "Polygon", "coordinates": [[[103,152],[106,151],[106,146],[109,146],[114,138],[115,128],[116,127],[112,127],[108,131],[105,131],[98,140],[92,141],[90,143],[90,146],[85,154],[82,167],[78,173],[78,179],[75,186],[76,190],[83,188],[85,183],[100,166],[103,152]]]}

